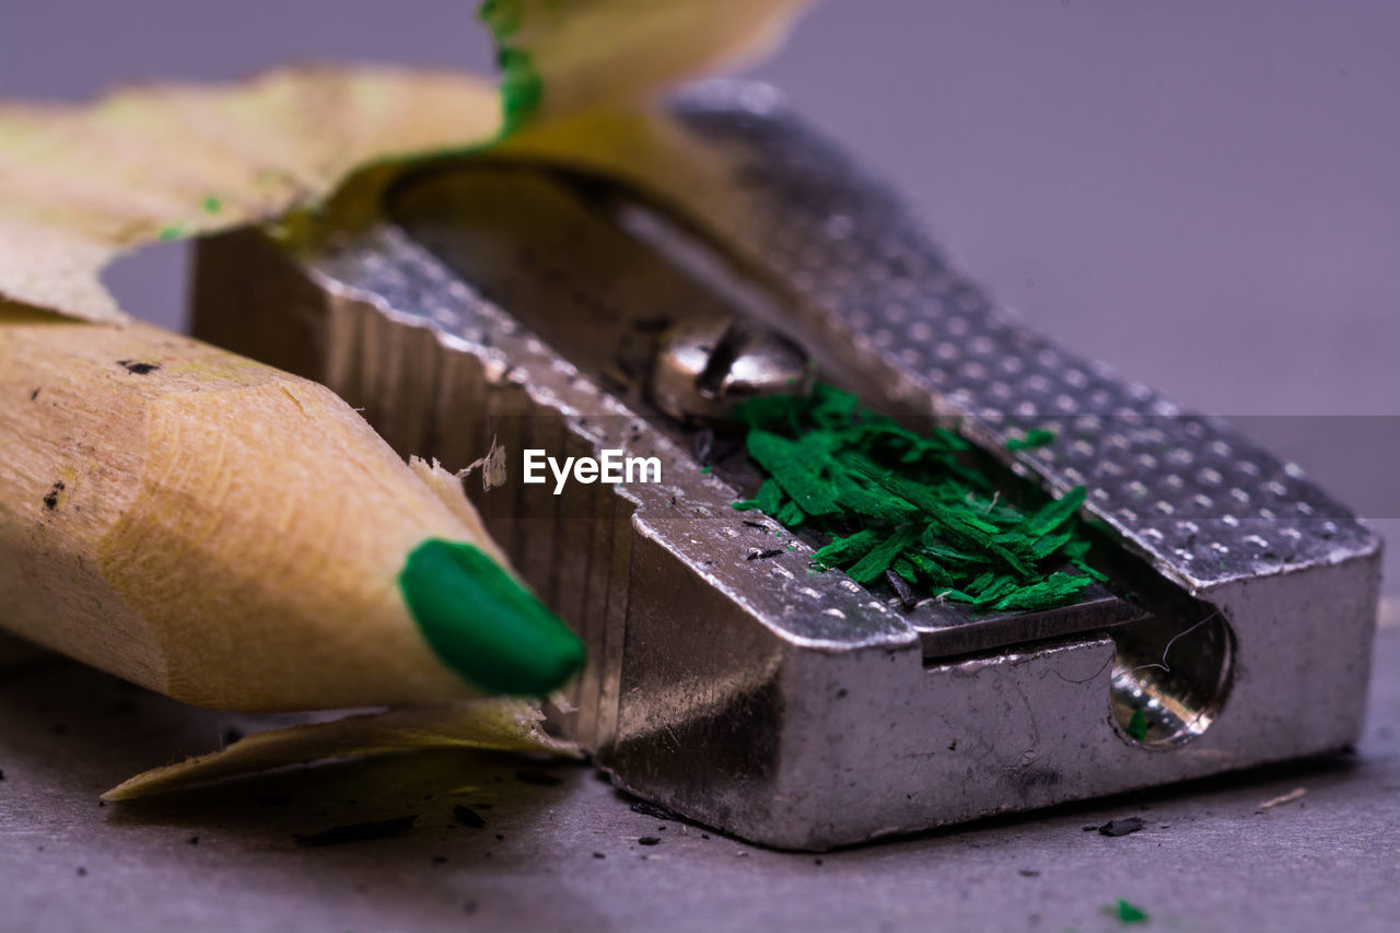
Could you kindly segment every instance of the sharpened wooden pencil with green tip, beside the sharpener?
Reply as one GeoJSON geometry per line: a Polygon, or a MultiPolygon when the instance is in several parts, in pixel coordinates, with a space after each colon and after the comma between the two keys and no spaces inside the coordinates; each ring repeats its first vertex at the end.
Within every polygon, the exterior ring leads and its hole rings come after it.
{"type": "Polygon", "coordinates": [[[0,303],[0,628],[175,699],[543,695],[582,644],[325,387],[0,303]]]}

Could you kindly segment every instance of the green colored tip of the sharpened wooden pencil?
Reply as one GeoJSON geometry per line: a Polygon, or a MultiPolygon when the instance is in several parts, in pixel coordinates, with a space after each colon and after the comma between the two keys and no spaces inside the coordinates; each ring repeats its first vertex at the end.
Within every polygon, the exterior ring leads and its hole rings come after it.
{"type": "Polygon", "coordinates": [[[424,541],[399,590],[442,663],[483,691],[543,696],[582,667],[578,636],[473,545],[424,541]]]}

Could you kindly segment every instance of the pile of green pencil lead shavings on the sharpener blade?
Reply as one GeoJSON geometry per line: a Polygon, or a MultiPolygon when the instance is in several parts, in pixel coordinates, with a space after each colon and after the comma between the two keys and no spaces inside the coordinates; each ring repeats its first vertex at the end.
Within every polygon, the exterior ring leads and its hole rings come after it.
{"type": "Polygon", "coordinates": [[[1105,580],[1085,563],[1082,486],[1022,511],[958,434],[918,434],[823,384],[811,396],[750,399],[738,419],[764,481],[734,507],[829,537],[812,555],[819,570],[840,567],[865,584],[892,573],[910,591],[994,611],[1067,605],[1105,580]]]}

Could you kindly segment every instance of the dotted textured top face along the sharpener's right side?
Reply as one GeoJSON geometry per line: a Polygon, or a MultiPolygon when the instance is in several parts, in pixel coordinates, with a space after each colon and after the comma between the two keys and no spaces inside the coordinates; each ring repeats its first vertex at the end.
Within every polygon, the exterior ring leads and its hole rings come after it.
{"type": "Polygon", "coordinates": [[[742,210],[717,233],[1014,469],[1054,492],[1086,486],[1086,509],[1163,574],[1200,591],[1379,549],[1298,465],[998,307],[904,200],[778,92],[711,81],[682,92],[672,115],[732,168],[742,210]],[[1005,450],[1033,429],[1056,440],[1005,450]]]}

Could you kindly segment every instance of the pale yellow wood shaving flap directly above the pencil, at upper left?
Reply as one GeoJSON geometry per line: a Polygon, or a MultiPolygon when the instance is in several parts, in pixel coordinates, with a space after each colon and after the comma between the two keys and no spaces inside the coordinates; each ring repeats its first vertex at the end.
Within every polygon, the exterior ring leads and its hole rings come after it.
{"type": "Polygon", "coordinates": [[[125,321],[98,280],[122,252],[314,206],[364,165],[477,144],[497,109],[483,78],[364,66],[3,104],[0,298],[125,321]]]}

